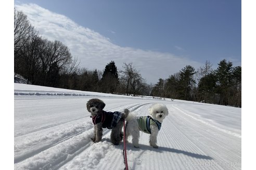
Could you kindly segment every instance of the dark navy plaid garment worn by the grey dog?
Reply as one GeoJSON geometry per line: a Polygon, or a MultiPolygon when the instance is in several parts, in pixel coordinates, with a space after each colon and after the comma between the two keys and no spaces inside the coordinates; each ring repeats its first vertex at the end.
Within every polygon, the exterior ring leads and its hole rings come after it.
{"type": "Polygon", "coordinates": [[[94,116],[93,124],[102,123],[103,128],[113,129],[122,118],[122,113],[119,111],[107,112],[102,111],[99,115],[94,116]]]}

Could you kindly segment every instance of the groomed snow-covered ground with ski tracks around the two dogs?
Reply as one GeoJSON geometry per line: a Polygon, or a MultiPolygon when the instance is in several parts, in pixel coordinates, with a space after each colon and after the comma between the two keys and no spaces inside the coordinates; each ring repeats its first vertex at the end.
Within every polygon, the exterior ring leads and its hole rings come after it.
{"type": "Polygon", "coordinates": [[[159,148],[140,132],[139,148],[127,144],[129,169],[241,169],[241,108],[19,83],[14,89],[15,169],[124,169],[123,143],[112,145],[110,130],[99,143],[90,139],[90,98],[103,100],[106,111],[142,116],[153,103],[167,105],[159,148]]]}

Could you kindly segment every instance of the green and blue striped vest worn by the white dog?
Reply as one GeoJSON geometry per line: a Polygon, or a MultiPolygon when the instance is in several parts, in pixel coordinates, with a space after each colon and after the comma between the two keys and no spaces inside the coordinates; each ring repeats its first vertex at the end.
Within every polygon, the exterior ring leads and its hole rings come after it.
{"type": "Polygon", "coordinates": [[[145,133],[151,134],[150,125],[158,126],[158,130],[161,129],[161,123],[150,116],[140,116],[137,118],[139,130],[145,133]]]}

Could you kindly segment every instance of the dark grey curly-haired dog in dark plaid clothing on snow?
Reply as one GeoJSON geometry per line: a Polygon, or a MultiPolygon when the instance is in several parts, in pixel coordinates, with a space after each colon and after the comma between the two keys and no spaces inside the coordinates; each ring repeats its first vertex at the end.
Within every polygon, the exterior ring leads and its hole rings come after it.
{"type": "Polygon", "coordinates": [[[94,123],[94,136],[92,140],[94,142],[99,142],[103,136],[103,128],[112,129],[111,130],[111,142],[114,145],[119,145],[123,138],[122,128],[123,121],[129,115],[129,110],[124,109],[124,112],[114,111],[107,112],[104,111],[105,103],[98,98],[92,98],[86,104],[87,110],[91,112],[91,117],[94,123]]]}

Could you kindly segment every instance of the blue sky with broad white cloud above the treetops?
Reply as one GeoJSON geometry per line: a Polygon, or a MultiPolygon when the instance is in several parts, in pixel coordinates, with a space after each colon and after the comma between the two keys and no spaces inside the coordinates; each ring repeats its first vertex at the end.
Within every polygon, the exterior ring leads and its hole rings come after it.
{"type": "Polygon", "coordinates": [[[15,5],[28,15],[40,33],[49,39],[61,40],[72,55],[80,59],[80,66],[88,69],[104,69],[111,60],[119,69],[123,62],[133,62],[147,82],[156,83],[160,77],[168,78],[186,65],[198,69],[207,60],[214,67],[223,59],[233,62],[234,66],[241,65],[241,1],[21,0],[15,1],[15,5]],[[30,5],[24,7],[24,4],[30,5]],[[36,10],[31,12],[31,9],[36,10]],[[66,17],[62,22],[47,22],[66,27],[66,31],[72,27],[71,34],[77,30],[75,27],[82,27],[84,31],[79,34],[93,40],[95,50],[88,52],[94,48],[86,44],[88,40],[76,42],[79,38],[68,39],[66,35],[70,33],[51,32],[59,28],[39,22],[49,20],[50,15],[42,14],[46,13],[44,9],[66,17]],[[40,10],[41,18],[36,18],[36,11],[40,10]],[[72,24],[63,24],[67,20],[72,24]],[[82,44],[86,49],[82,49],[82,44]]]}

